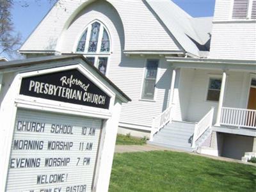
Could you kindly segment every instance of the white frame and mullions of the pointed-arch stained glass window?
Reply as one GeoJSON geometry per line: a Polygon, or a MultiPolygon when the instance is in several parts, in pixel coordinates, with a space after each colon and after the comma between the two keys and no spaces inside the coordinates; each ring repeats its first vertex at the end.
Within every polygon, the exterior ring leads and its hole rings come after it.
{"type": "Polygon", "coordinates": [[[93,65],[96,68],[98,68],[99,58],[108,58],[106,74],[105,74],[105,76],[108,76],[109,58],[110,58],[110,55],[112,54],[112,40],[111,40],[111,36],[110,36],[108,28],[100,20],[95,19],[92,22],[90,22],[85,28],[83,28],[83,31],[80,34],[81,35],[77,36],[77,40],[76,40],[75,47],[73,48],[73,52],[76,52],[77,54],[83,54],[85,57],[94,57],[95,59],[94,59],[93,65]],[[99,37],[98,37],[98,43],[97,43],[97,51],[96,52],[88,52],[89,42],[90,42],[91,32],[92,32],[92,24],[94,22],[99,22],[99,24],[100,24],[100,31],[99,31],[99,37]],[[81,37],[83,36],[84,31],[86,31],[86,29],[87,29],[87,35],[86,35],[84,51],[83,52],[76,51],[79,41],[80,41],[81,37]],[[108,37],[109,37],[109,44],[110,44],[109,52],[100,52],[100,46],[102,44],[102,36],[103,36],[104,29],[107,31],[108,37]]]}

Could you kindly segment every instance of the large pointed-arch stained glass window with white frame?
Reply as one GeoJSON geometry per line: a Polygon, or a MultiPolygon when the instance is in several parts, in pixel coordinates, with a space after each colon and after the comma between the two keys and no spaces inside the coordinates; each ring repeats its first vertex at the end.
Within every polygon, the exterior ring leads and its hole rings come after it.
{"type": "Polygon", "coordinates": [[[79,38],[76,52],[83,53],[102,74],[106,75],[110,56],[110,40],[106,27],[98,20],[89,24],[79,38]]]}

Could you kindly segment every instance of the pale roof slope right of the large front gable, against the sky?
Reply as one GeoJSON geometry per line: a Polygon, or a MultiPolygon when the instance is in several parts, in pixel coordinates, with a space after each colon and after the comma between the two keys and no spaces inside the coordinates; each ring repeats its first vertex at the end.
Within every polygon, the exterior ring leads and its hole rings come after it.
{"type": "Polygon", "coordinates": [[[205,45],[211,38],[208,33],[211,33],[212,17],[193,18],[173,1],[148,0],[147,3],[183,49],[199,56],[201,50],[198,45],[205,45]]]}

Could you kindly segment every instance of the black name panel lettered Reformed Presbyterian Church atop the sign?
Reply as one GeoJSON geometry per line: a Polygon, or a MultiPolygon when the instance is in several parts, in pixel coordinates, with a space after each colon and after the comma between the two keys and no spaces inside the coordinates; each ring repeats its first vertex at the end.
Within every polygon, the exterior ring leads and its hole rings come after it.
{"type": "Polygon", "coordinates": [[[94,108],[109,108],[110,97],[79,70],[65,70],[22,79],[21,95],[94,108]]]}

